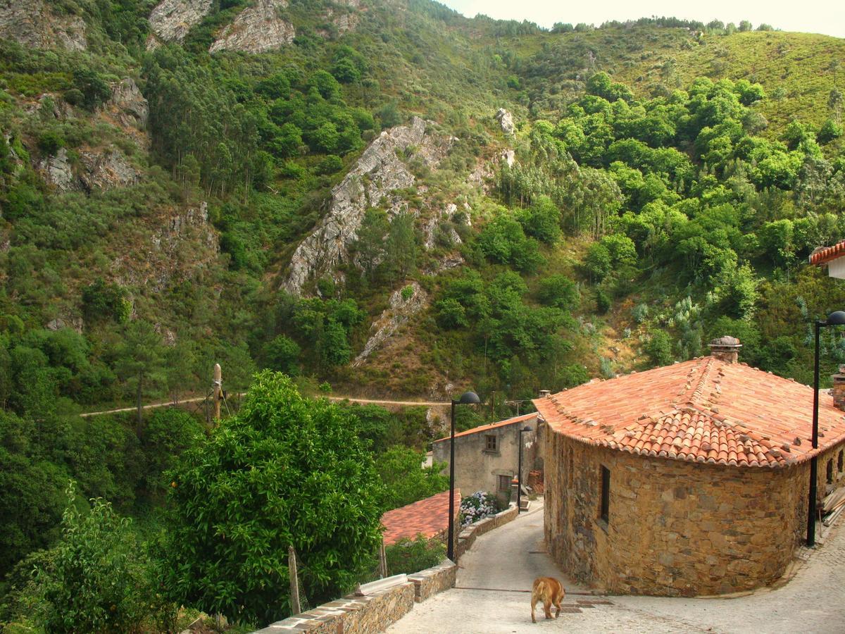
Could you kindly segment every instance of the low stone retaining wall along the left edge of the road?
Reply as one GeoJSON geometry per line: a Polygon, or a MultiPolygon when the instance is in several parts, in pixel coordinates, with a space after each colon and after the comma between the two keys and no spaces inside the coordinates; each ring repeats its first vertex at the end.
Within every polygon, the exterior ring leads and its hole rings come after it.
{"type": "MultiPolygon", "coordinates": [[[[507,511],[466,527],[455,546],[455,555],[460,557],[479,535],[511,522],[516,516],[516,507],[511,506],[507,511]]],[[[311,634],[369,634],[384,631],[410,612],[414,603],[422,603],[434,594],[454,588],[457,571],[458,566],[448,559],[443,560],[438,566],[408,575],[407,582],[365,594],[363,597],[349,594],[302,614],[276,621],[258,630],[258,634],[302,631],[311,634]]],[[[366,590],[366,587],[363,589],[366,590]]]]}

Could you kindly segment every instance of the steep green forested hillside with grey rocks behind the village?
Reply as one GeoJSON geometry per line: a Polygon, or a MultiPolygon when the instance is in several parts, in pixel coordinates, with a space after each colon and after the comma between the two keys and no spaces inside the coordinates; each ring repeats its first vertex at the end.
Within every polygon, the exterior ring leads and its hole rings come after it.
{"type": "MultiPolygon", "coordinates": [[[[57,538],[70,477],[146,516],[195,421],[76,414],[204,394],[214,363],[232,392],[502,402],[733,335],[809,382],[845,306],[805,264],[845,238],[845,41],[565,18],[0,3],[0,573],[57,538]]],[[[358,414],[377,455],[439,433],[358,414]]]]}

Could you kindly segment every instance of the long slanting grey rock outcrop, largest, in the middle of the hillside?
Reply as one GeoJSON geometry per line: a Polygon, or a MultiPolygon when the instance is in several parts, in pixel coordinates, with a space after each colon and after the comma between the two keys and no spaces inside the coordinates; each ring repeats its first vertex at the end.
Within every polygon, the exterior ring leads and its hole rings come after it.
{"type": "Polygon", "coordinates": [[[346,178],[332,189],[329,212],[294,252],[290,273],[282,284],[288,292],[299,295],[308,279],[346,261],[364,211],[379,205],[394,189],[414,183],[413,174],[398,152],[413,147],[415,156],[432,167],[446,155],[452,139],[428,134],[426,128],[423,119],[414,117],[409,125],[382,132],[364,150],[346,178]]]}

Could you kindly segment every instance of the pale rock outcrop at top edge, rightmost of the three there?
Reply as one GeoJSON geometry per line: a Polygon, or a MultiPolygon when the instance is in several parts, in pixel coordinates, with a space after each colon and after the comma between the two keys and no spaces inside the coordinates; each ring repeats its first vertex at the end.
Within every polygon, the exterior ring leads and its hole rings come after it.
{"type": "Polygon", "coordinates": [[[259,53],[273,51],[290,44],[297,35],[293,25],[279,17],[279,9],[287,7],[287,0],[257,0],[237,14],[226,26],[209,52],[243,51],[259,53]]]}

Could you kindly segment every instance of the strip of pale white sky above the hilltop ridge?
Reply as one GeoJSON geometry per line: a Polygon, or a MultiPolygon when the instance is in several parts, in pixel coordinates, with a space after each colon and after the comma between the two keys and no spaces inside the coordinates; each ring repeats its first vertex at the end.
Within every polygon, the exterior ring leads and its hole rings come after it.
{"type": "Polygon", "coordinates": [[[439,0],[469,18],[486,14],[496,19],[527,19],[551,27],[555,22],[579,22],[600,25],[616,19],[636,19],[651,15],[667,15],[697,19],[705,24],[711,19],[722,22],[749,20],[755,28],[766,22],[780,30],[824,33],[845,37],[845,0],[709,0],[681,3],[678,0],[586,0],[559,3],[552,0],[439,0]]]}

